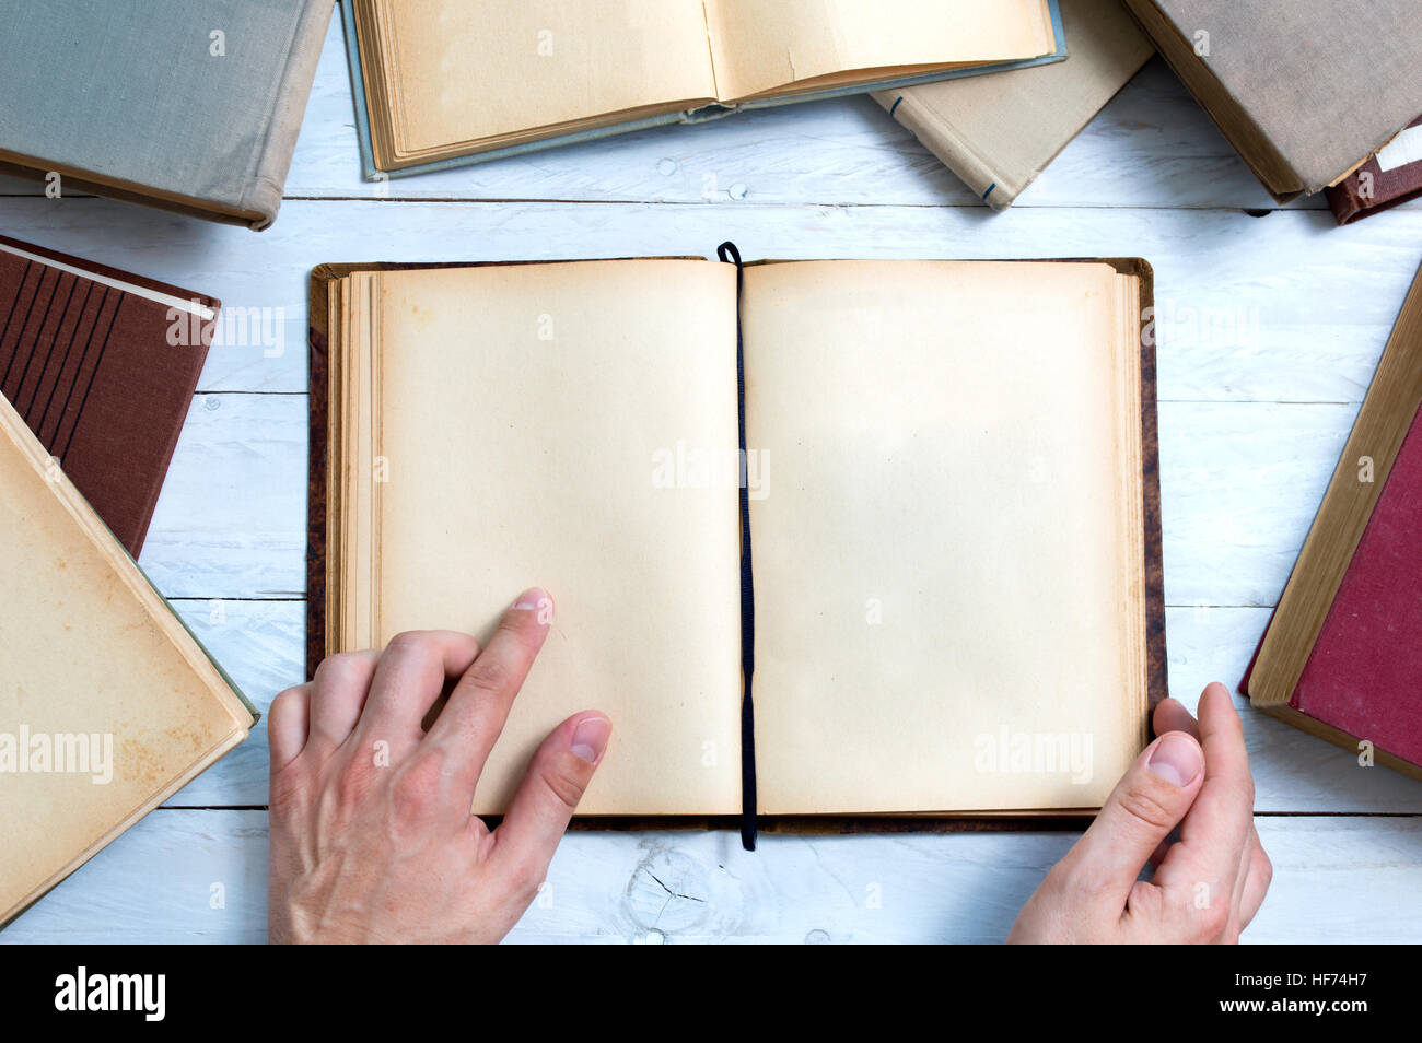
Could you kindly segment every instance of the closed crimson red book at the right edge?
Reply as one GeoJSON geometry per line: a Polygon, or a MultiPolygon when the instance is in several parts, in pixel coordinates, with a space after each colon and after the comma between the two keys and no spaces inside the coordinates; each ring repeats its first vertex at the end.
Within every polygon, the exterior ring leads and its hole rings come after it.
{"type": "Polygon", "coordinates": [[[1422,273],[1240,691],[1422,779],[1422,273]]]}

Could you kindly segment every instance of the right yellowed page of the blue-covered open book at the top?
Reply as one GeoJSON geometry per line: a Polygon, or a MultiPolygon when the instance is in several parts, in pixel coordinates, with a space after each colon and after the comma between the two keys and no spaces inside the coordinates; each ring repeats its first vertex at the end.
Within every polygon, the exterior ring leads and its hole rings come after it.
{"type": "Polygon", "coordinates": [[[929,71],[1055,48],[1045,0],[707,0],[722,99],[843,72],[929,71]]]}

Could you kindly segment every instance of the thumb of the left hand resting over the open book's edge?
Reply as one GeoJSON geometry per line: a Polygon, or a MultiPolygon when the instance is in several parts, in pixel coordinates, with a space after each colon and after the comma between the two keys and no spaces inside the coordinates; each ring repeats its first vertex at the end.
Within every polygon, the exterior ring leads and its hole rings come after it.
{"type": "Polygon", "coordinates": [[[577,713],[555,728],[529,762],[529,770],[495,830],[495,858],[516,875],[542,882],[557,841],[603,759],[613,722],[597,712],[577,713]]]}

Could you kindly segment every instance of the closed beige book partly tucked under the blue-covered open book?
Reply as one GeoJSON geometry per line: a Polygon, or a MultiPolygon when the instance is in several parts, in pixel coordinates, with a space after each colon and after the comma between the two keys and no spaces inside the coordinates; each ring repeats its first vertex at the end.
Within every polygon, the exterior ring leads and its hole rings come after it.
{"type": "Polygon", "coordinates": [[[1121,0],[1061,0],[1066,61],[873,98],[994,210],[1005,210],[1146,64],[1121,0]]]}

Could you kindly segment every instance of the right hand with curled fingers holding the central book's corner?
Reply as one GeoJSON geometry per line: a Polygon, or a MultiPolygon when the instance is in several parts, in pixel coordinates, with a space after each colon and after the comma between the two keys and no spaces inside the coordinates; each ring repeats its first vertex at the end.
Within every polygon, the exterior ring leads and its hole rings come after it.
{"type": "Polygon", "coordinates": [[[1254,831],[1254,780],[1230,693],[1209,685],[1199,723],[1166,699],[1155,730],[1008,942],[1237,942],[1258,912],[1273,867],[1254,831]],[[1155,875],[1139,881],[1148,860],[1155,875]]]}

